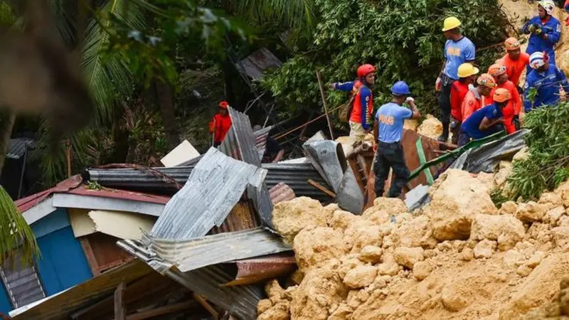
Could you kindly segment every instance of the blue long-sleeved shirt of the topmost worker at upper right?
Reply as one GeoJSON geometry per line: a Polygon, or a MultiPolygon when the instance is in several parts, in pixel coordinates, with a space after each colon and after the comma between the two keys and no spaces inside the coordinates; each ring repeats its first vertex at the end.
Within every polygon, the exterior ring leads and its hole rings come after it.
{"type": "Polygon", "coordinates": [[[548,21],[543,24],[541,23],[541,18],[539,18],[539,16],[534,16],[521,27],[521,30],[524,33],[527,32],[528,27],[532,24],[541,26],[541,32],[546,33],[547,36],[546,39],[543,39],[541,38],[541,34],[536,35],[532,33],[531,36],[529,36],[526,53],[531,55],[534,52],[545,51],[549,55],[550,63],[555,64],[555,51],[553,50],[553,47],[555,46],[555,43],[558,43],[561,36],[561,24],[559,23],[559,20],[553,16],[549,16],[548,21]]]}

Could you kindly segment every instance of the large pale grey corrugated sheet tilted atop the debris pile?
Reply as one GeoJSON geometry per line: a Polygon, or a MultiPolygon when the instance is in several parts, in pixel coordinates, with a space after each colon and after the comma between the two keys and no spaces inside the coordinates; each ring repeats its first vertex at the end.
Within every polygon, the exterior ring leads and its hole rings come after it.
{"type": "Polygon", "coordinates": [[[267,171],[211,148],[156,221],[150,235],[187,239],[221,225],[248,185],[260,186],[267,171]]]}

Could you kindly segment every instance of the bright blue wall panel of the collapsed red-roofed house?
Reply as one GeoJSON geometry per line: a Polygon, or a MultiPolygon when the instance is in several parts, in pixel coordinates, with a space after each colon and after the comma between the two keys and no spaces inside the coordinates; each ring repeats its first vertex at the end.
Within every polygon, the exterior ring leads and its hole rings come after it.
{"type": "Polygon", "coordinates": [[[38,273],[48,296],[92,278],[79,240],[70,226],[38,238],[38,273]]]}

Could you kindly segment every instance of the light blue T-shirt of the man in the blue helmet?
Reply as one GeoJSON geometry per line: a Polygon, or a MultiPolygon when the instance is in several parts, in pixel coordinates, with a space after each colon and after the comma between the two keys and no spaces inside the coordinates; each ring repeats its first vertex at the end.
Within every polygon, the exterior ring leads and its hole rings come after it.
{"type": "Polygon", "coordinates": [[[378,141],[385,143],[400,142],[403,137],[403,123],[410,119],[413,111],[401,107],[395,102],[382,105],[376,112],[379,124],[378,141]]]}

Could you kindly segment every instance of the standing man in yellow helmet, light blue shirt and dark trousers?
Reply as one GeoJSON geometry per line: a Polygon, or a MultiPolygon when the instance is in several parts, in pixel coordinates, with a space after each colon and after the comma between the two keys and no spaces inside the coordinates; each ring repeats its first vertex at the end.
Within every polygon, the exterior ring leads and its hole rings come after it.
{"type": "Polygon", "coordinates": [[[442,135],[440,141],[446,142],[449,137],[450,124],[450,87],[452,82],[458,80],[458,67],[462,63],[472,63],[476,58],[476,48],[469,38],[462,36],[459,30],[459,19],[454,16],[445,19],[442,31],[445,33],[445,63],[437,82],[435,90],[440,91],[440,121],[442,122],[442,135]]]}

